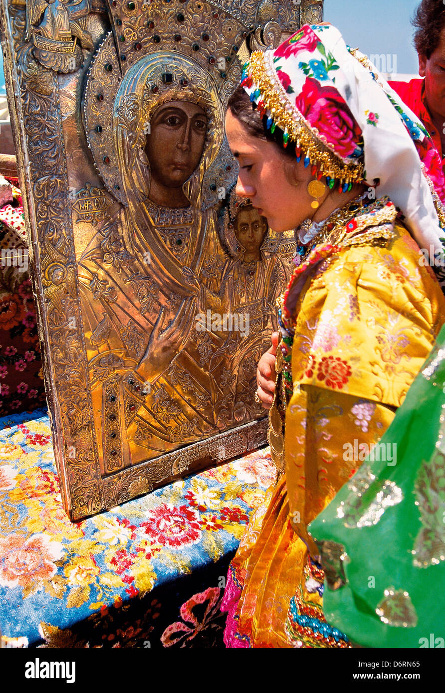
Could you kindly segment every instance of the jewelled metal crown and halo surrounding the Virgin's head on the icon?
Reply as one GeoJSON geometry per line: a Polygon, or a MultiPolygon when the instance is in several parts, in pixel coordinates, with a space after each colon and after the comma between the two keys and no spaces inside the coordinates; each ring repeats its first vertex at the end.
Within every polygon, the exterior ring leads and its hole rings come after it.
{"type": "Polygon", "coordinates": [[[212,207],[236,179],[236,166],[223,139],[223,113],[241,78],[236,54],[246,35],[245,26],[204,0],[189,0],[187,6],[135,0],[124,3],[119,12],[113,6],[112,26],[89,67],[83,105],[87,143],[101,179],[126,206],[118,166],[122,162],[114,141],[124,99],[127,115],[128,107],[137,112],[146,108],[146,121],[136,116],[138,122],[131,125],[138,132],[148,128],[150,112],[166,100],[202,101],[209,118],[207,139],[213,139],[213,150],[204,167],[200,205],[202,209],[212,207]],[[151,68],[146,71],[147,89],[142,94],[138,83],[138,94],[132,99],[131,75],[140,76],[141,65],[151,68]],[[212,126],[213,130],[219,128],[216,150],[212,126]]]}

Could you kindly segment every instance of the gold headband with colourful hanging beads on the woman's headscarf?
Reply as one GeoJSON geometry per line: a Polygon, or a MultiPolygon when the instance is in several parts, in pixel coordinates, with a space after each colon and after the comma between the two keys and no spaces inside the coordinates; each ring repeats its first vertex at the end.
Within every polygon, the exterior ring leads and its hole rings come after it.
{"type": "Polygon", "coordinates": [[[295,144],[297,161],[304,157],[304,166],[311,165],[311,173],[318,180],[325,176],[331,190],[336,183],[340,192],[351,190],[354,183],[363,181],[363,161],[340,157],[290,103],[274,68],[273,55],[273,51],[254,51],[243,67],[241,86],[250,94],[260,116],[267,116],[270,132],[273,134],[277,126],[283,131],[283,146],[287,147],[289,140],[295,144]]]}

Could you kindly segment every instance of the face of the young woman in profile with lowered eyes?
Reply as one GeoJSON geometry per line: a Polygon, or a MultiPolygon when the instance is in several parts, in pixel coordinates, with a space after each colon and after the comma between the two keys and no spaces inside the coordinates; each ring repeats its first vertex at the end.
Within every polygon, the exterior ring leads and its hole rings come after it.
{"type": "MultiPolygon", "coordinates": [[[[313,179],[311,170],[287,157],[273,142],[252,137],[229,110],[225,128],[229,147],[240,166],[236,194],[250,198],[274,231],[295,229],[312,218],[314,198],[307,190],[313,179]]],[[[320,204],[328,193],[326,188],[320,204]]]]}

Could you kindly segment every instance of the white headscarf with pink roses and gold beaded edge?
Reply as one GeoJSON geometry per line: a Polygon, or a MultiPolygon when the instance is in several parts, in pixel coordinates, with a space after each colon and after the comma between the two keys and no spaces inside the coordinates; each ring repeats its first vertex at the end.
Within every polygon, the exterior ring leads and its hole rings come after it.
{"type": "Polygon", "coordinates": [[[377,185],[419,247],[442,253],[444,208],[419,157],[433,148],[428,132],[362,63],[365,56],[352,55],[335,27],[305,25],[274,51],[252,53],[241,84],[314,177],[344,192],[357,182],[377,185]]]}

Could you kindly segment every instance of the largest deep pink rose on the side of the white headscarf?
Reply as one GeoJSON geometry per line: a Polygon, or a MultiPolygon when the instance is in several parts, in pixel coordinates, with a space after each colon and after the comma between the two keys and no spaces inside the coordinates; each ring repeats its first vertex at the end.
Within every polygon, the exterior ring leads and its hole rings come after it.
{"type": "Polygon", "coordinates": [[[295,105],[308,123],[317,128],[340,157],[349,157],[362,139],[349,106],[334,87],[322,87],[307,77],[295,105]]]}

